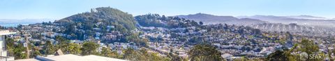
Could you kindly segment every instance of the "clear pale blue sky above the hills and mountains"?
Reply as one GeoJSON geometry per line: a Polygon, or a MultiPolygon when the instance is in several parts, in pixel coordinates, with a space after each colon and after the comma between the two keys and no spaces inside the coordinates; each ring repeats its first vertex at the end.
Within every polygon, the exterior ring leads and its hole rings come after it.
{"type": "Polygon", "coordinates": [[[61,19],[90,8],[132,15],[313,15],[335,17],[335,0],[0,0],[0,19],[61,19]]]}

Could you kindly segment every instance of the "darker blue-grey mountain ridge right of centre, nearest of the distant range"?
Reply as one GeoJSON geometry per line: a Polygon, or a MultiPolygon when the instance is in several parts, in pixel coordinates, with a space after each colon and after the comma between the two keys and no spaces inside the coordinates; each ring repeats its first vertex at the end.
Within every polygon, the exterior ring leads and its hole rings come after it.
{"type": "Polygon", "coordinates": [[[204,24],[237,24],[237,25],[250,25],[250,24],[262,24],[267,21],[261,21],[260,19],[251,18],[237,18],[232,16],[216,16],[208,15],[204,13],[197,13],[195,15],[177,15],[174,17],[181,17],[184,19],[191,19],[194,21],[202,21],[204,24]]]}

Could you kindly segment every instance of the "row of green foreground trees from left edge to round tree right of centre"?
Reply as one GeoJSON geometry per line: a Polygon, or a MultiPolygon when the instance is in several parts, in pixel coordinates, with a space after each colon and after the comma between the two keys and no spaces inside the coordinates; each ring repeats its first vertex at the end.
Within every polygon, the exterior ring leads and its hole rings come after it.
{"type": "MultiPolygon", "coordinates": [[[[169,53],[168,56],[164,57],[158,55],[158,53],[149,53],[147,49],[141,48],[135,50],[128,48],[123,50],[123,54],[117,53],[117,51],[112,51],[110,48],[103,47],[101,52],[97,52],[98,44],[96,42],[84,42],[83,44],[74,44],[68,42],[63,37],[57,37],[57,44],[53,42],[46,41],[45,44],[40,44],[43,46],[43,49],[38,49],[34,44],[30,44],[29,50],[31,55],[30,58],[34,58],[37,55],[53,55],[58,49],[63,51],[65,54],[74,54],[74,55],[102,55],[110,58],[119,58],[125,60],[138,60],[138,61],[187,61],[187,58],[181,58],[178,55],[169,53]]],[[[15,56],[15,59],[24,59],[26,58],[25,47],[20,42],[8,38],[6,39],[6,45],[8,49],[8,54],[15,56]],[[15,44],[19,43],[19,44],[15,44]]],[[[204,61],[204,60],[216,60],[221,61],[221,53],[216,50],[214,46],[209,44],[198,44],[189,52],[191,60],[204,61]]]]}

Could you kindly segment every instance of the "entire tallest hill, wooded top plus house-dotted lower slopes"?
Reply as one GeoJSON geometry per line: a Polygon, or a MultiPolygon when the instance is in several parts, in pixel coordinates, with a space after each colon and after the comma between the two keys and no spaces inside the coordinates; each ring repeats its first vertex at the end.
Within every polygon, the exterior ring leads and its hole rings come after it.
{"type": "MultiPolygon", "coordinates": [[[[96,33],[106,34],[111,31],[122,34],[135,30],[137,22],[133,15],[122,12],[115,8],[102,7],[93,8],[91,12],[83,12],[54,23],[42,23],[43,25],[54,25],[61,30],[53,30],[57,33],[64,33],[70,40],[86,40],[88,37],[99,37],[96,33]]],[[[121,38],[124,39],[124,38],[121,38]]]]}

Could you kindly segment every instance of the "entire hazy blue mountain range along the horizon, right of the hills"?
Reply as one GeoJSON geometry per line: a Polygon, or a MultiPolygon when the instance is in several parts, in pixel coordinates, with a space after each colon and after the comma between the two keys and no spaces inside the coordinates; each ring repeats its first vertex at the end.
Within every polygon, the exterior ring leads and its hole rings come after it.
{"type": "Polygon", "coordinates": [[[331,26],[335,27],[335,19],[325,17],[315,17],[311,15],[298,16],[274,16],[274,15],[254,15],[254,16],[217,16],[204,13],[197,13],[195,15],[177,15],[185,19],[195,21],[203,21],[205,24],[237,24],[237,25],[251,25],[263,23],[281,23],[281,24],[298,24],[305,26],[331,26]]]}

